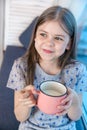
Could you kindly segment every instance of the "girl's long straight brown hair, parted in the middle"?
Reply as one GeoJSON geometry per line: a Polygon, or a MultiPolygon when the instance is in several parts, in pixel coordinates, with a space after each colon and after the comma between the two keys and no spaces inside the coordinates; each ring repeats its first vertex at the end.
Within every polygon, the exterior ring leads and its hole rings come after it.
{"type": "Polygon", "coordinates": [[[52,6],[46,9],[37,19],[35,24],[31,41],[29,43],[29,48],[27,50],[27,84],[33,84],[35,67],[36,63],[39,63],[39,54],[35,49],[35,36],[36,31],[40,25],[47,21],[56,21],[60,24],[62,29],[68,33],[70,36],[70,49],[65,50],[64,54],[58,58],[58,65],[63,69],[65,65],[71,62],[71,59],[75,59],[76,55],[76,35],[77,35],[77,26],[76,20],[71,13],[66,8],[60,6],[52,6]]]}

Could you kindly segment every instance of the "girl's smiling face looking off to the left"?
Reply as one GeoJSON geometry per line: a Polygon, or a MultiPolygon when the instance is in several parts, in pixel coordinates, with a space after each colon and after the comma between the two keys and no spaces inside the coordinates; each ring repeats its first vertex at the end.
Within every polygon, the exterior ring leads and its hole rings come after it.
{"type": "Polygon", "coordinates": [[[58,22],[50,21],[40,25],[36,32],[35,48],[41,60],[56,61],[70,48],[70,37],[58,22]]]}

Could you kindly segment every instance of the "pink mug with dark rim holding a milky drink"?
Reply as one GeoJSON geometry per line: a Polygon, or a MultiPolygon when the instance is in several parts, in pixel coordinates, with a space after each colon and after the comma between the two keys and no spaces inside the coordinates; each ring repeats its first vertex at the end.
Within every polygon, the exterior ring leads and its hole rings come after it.
{"type": "Polygon", "coordinates": [[[37,91],[38,108],[46,114],[58,113],[57,106],[61,100],[67,96],[67,88],[56,81],[45,81],[40,85],[40,91],[37,91]]]}

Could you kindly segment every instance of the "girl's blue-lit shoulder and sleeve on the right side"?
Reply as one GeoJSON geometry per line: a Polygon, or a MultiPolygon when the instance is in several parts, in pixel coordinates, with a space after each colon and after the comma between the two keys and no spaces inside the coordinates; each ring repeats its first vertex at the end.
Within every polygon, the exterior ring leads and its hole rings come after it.
{"type": "Polygon", "coordinates": [[[79,61],[73,60],[63,70],[63,81],[66,86],[74,89],[78,93],[87,91],[86,66],[79,61]]]}

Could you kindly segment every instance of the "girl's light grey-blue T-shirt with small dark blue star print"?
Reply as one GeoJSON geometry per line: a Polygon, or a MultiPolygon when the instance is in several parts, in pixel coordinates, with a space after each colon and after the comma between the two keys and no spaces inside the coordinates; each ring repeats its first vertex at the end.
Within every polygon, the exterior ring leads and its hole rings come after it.
{"type": "MultiPolygon", "coordinates": [[[[27,79],[27,62],[23,58],[15,60],[7,87],[14,90],[21,90],[26,86],[27,79]]],[[[77,93],[87,91],[87,71],[85,65],[74,61],[72,64],[66,65],[61,74],[49,75],[36,64],[34,86],[39,90],[41,82],[46,80],[55,80],[63,83],[65,86],[72,88],[77,93]]],[[[76,130],[75,122],[66,115],[48,115],[38,109],[32,107],[30,117],[20,123],[19,130],[76,130]]]]}

